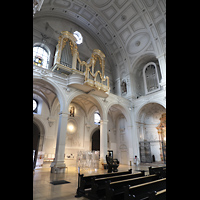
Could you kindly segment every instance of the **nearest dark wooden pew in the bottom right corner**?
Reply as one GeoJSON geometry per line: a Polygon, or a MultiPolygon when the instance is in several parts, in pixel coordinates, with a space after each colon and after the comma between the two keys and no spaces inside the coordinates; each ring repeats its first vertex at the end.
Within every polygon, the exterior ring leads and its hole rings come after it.
{"type": "MultiPolygon", "coordinates": [[[[166,178],[158,179],[148,183],[139,184],[136,186],[124,187],[124,200],[141,200],[149,196],[150,192],[161,191],[166,189],[166,178]]],[[[161,194],[159,194],[161,195],[161,194]]],[[[159,198],[159,195],[157,198],[159,198]]],[[[164,195],[164,194],[163,194],[164,195]]],[[[161,197],[161,196],[160,196],[161,197]]],[[[117,200],[117,199],[116,199],[117,200]]]]}

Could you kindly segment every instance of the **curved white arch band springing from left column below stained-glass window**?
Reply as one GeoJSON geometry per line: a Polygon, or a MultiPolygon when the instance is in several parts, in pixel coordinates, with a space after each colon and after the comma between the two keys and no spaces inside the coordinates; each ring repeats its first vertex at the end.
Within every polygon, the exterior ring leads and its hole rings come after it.
{"type": "Polygon", "coordinates": [[[44,85],[46,85],[46,84],[49,85],[54,90],[55,94],[57,95],[57,98],[60,103],[60,112],[67,111],[65,95],[63,94],[63,91],[61,90],[61,88],[55,82],[50,81],[48,79],[44,80],[43,78],[33,76],[33,85],[34,85],[34,83],[41,83],[44,85]]]}

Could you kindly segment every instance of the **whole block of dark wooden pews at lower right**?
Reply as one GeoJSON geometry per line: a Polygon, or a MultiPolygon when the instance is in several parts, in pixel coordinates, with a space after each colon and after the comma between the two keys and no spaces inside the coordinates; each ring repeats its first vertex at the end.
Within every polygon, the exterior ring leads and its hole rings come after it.
{"type": "Polygon", "coordinates": [[[124,172],[84,176],[79,174],[75,197],[91,200],[164,200],[166,199],[166,167],[149,167],[132,174],[124,172]]]}

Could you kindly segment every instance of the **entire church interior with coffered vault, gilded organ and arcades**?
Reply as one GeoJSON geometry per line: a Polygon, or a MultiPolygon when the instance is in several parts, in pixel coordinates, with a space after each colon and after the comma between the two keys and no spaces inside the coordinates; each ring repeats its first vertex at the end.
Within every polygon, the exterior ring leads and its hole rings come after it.
{"type": "Polygon", "coordinates": [[[33,0],[33,199],[132,199],[82,186],[130,169],[166,199],[166,1],[33,0]]]}

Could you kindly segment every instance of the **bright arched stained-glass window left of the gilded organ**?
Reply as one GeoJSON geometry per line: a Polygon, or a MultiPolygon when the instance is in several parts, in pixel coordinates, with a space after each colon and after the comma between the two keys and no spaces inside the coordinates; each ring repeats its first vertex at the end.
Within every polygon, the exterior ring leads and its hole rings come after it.
{"type": "Polygon", "coordinates": [[[48,69],[50,51],[44,44],[33,47],[33,64],[48,69]]]}

